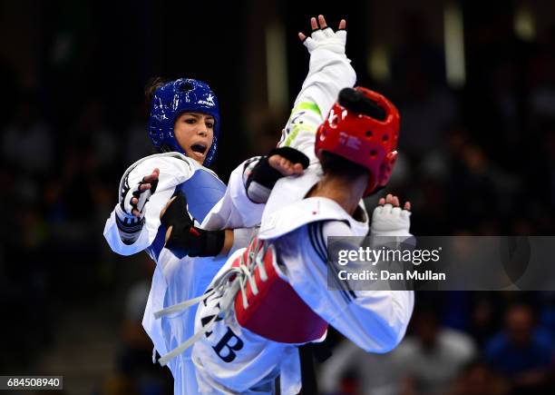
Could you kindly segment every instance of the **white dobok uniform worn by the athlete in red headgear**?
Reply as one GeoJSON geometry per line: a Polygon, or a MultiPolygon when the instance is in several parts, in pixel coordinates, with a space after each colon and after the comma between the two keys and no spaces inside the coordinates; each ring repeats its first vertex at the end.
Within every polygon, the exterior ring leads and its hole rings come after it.
{"type": "Polygon", "coordinates": [[[258,239],[230,256],[200,302],[192,358],[202,393],[272,393],[280,375],[281,392],[296,394],[297,345],[322,341],[327,323],[365,351],[390,351],[404,336],[412,291],[353,291],[342,284],[339,291],[328,290],[327,237],[365,236],[364,203],[355,219],[334,201],[305,199],[322,175],[314,153],[316,127],[339,91],[354,84],[345,53],[312,51],[279,143],[307,154],[309,167],[301,176],[280,179],[268,202],[256,204],[246,196],[246,164],[240,165],[203,222],[205,229],[223,229],[261,219],[258,239]]]}

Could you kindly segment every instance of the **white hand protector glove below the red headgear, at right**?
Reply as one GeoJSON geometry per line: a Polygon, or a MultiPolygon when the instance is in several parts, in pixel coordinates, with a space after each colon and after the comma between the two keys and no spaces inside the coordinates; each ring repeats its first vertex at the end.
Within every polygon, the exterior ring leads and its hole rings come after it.
{"type": "Polygon", "coordinates": [[[372,213],[370,231],[374,236],[411,237],[411,212],[390,203],[379,205],[372,213]]]}

